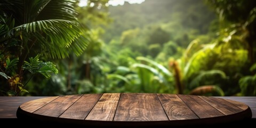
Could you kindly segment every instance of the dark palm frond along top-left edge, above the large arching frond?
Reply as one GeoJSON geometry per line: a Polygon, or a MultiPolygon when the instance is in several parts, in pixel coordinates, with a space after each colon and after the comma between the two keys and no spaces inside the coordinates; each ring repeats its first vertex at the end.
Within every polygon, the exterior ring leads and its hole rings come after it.
{"type": "Polygon", "coordinates": [[[75,2],[73,0],[2,0],[0,9],[6,15],[12,15],[17,20],[17,25],[46,19],[75,21],[77,15],[74,10],[75,2]]]}

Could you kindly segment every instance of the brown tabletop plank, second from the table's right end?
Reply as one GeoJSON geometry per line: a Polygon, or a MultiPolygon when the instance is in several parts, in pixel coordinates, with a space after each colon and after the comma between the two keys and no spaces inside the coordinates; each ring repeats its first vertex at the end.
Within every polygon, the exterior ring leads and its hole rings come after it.
{"type": "Polygon", "coordinates": [[[215,109],[219,110],[221,113],[225,115],[235,114],[243,111],[243,109],[234,106],[232,103],[228,102],[225,99],[203,96],[199,96],[199,98],[203,99],[204,101],[206,101],[215,109]]]}

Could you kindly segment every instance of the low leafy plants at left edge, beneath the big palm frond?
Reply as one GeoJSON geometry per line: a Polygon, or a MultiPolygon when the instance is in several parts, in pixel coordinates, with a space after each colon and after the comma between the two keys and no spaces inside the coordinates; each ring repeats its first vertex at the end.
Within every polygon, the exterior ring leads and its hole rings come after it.
{"type": "Polygon", "coordinates": [[[58,73],[58,69],[52,62],[43,62],[39,60],[39,55],[36,55],[35,58],[29,58],[29,62],[25,61],[22,66],[23,73],[29,71],[31,73],[30,78],[26,83],[22,82],[22,77],[15,73],[15,68],[17,68],[18,58],[10,60],[9,58],[6,60],[5,69],[1,69],[0,75],[7,79],[9,82],[10,90],[4,91],[2,90],[4,95],[14,96],[19,95],[21,92],[29,93],[24,87],[28,84],[30,79],[36,74],[40,73],[44,75],[46,78],[51,77],[51,74],[58,73]],[[11,75],[11,76],[9,76],[11,75]]]}

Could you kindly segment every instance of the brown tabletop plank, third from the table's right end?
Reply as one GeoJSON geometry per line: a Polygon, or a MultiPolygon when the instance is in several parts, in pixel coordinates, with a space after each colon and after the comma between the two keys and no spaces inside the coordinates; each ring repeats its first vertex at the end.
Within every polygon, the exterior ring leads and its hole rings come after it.
{"type": "Polygon", "coordinates": [[[186,103],[186,105],[194,111],[199,118],[209,118],[223,116],[219,110],[215,109],[209,103],[205,102],[197,95],[182,95],[178,94],[180,99],[186,103]]]}

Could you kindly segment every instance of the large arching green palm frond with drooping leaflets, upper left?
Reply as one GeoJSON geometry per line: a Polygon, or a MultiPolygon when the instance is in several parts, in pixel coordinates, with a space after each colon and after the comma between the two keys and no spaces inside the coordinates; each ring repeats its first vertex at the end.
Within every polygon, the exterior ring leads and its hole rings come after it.
{"type": "Polygon", "coordinates": [[[41,45],[45,55],[51,58],[65,58],[71,52],[80,55],[87,46],[87,39],[81,35],[76,22],[54,19],[35,21],[17,26],[22,36],[37,38],[35,44],[41,45]]]}

